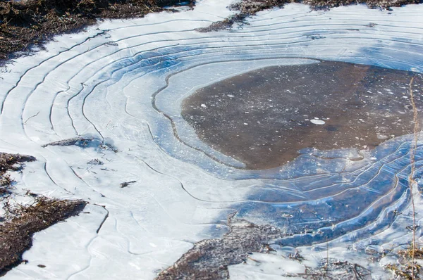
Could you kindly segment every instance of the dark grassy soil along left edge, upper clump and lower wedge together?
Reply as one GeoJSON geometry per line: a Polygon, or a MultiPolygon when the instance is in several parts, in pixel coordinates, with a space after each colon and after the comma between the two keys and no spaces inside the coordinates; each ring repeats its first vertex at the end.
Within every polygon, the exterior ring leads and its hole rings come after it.
{"type": "Polygon", "coordinates": [[[33,161],[30,155],[0,153],[0,201],[6,215],[0,224],[0,276],[22,261],[22,254],[32,246],[32,234],[47,229],[56,222],[77,215],[86,205],[84,201],[61,201],[37,196],[32,205],[11,205],[7,199],[13,191],[13,179],[8,170],[21,170],[24,162],[33,161]]]}

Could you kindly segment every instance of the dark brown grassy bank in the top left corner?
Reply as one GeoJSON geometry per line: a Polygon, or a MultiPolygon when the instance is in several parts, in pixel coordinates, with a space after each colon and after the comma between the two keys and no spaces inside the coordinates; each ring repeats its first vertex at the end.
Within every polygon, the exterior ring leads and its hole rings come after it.
{"type": "Polygon", "coordinates": [[[96,18],[140,18],[178,0],[1,0],[0,65],[54,34],[74,32],[96,18]]]}

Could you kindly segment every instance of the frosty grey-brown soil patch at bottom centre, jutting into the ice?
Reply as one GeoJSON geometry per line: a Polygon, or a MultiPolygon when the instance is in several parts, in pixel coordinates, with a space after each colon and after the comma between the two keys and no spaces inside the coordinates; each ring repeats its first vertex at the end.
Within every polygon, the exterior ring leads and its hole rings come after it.
{"type": "MultiPolygon", "coordinates": [[[[276,227],[259,226],[244,220],[232,222],[231,231],[221,239],[207,239],[195,243],[175,264],[159,274],[165,279],[228,279],[228,265],[247,260],[249,253],[267,252],[268,242],[281,237],[276,227]]],[[[271,250],[271,249],[270,249],[271,250]]]]}

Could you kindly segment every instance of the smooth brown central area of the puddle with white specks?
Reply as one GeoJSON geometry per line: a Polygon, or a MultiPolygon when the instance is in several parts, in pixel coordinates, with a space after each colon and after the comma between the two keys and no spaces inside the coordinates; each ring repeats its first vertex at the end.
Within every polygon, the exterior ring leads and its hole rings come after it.
{"type": "Polygon", "coordinates": [[[374,148],[414,128],[414,72],[333,61],[262,68],[197,90],[182,116],[202,141],[248,169],[278,167],[302,148],[374,148]]]}

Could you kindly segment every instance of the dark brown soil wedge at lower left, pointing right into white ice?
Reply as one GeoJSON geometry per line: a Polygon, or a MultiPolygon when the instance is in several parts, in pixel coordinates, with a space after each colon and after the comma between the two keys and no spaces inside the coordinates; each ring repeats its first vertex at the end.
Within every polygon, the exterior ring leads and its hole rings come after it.
{"type": "Polygon", "coordinates": [[[0,276],[22,262],[22,254],[32,246],[35,232],[78,215],[86,204],[40,196],[34,205],[19,208],[16,217],[0,225],[0,276]]]}

